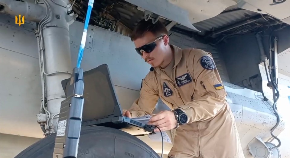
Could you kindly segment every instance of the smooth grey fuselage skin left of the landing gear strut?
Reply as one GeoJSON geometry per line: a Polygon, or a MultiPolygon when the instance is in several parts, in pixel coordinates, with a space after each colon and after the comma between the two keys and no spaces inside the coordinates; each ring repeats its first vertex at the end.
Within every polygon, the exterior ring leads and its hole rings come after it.
{"type": "Polygon", "coordinates": [[[0,132],[43,137],[35,120],[41,81],[34,32],[5,24],[2,18],[0,30],[0,132]]]}

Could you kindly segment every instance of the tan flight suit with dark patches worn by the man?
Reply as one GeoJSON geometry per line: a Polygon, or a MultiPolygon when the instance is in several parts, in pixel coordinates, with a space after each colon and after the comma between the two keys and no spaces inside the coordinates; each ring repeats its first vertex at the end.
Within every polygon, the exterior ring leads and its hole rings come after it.
{"type": "Polygon", "coordinates": [[[146,75],[139,98],[128,109],[132,117],[152,114],[160,97],[171,109],[180,108],[189,118],[187,124],[177,128],[169,157],[244,158],[234,116],[211,54],[171,47],[172,73],[168,73],[168,68],[155,68],[146,75]]]}

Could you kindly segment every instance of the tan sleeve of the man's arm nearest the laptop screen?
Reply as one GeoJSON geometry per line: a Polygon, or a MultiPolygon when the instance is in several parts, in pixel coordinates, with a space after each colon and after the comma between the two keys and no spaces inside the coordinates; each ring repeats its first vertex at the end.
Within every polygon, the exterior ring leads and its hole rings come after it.
{"type": "Polygon", "coordinates": [[[128,111],[131,112],[132,117],[140,117],[145,115],[153,115],[155,105],[158,102],[158,92],[152,85],[152,81],[142,80],[142,87],[139,98],[134,101],[128,111]]]}

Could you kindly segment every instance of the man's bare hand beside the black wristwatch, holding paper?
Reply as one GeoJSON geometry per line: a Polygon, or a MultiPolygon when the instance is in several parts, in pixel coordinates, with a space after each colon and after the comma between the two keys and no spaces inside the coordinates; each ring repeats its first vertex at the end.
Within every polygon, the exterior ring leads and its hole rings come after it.
{"type": "MultiPolygon", "coordinates": [[[[174,112],[172,111],[161,111],[155,116],[153,116],[148,125],[155,125],[161,129],[161,131],[167,131],[175,128],[176,126],[176,119],[174,112]]],[[[155,132],[159,131],[158,129],[154,129],[155,132]]]]}

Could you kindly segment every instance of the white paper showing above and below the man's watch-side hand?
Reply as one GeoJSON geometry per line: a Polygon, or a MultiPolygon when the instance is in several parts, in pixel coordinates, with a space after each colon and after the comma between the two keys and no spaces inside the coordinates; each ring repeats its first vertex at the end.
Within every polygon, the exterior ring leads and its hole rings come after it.
{"type": "MultiPolygon", "coordinates": [[[[141,116],[141,117],[135,117],[135,118],[132,118],[132,119],[147,124],[149,122],[150,118],[152,118],[150,115],[146,115],[146,116],[141,116]]],[[[172,144],[168,134],[165,131],[162,132],[162,136],[163,136],[163,141],[164,142],[172,144]]],[[[156,132],[155,134],[149,134],[148,137],[150,138],[151,141],[162,142],[160,132],[156,132]]]]}

